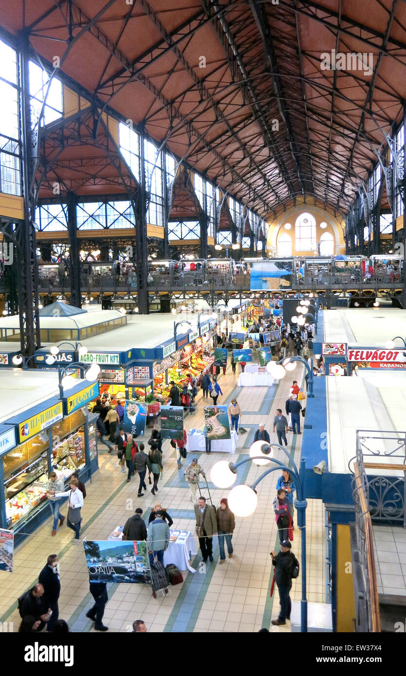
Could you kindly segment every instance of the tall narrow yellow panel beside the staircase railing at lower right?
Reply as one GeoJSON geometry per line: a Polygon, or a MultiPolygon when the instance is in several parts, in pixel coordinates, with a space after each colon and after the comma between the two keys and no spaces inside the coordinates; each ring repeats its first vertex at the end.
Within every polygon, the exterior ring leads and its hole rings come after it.
{"type": "Polygon", "coordinates": [[[348,525],[337,525],[337,632],[353,632],[355,617],[351,539],[348,525]],[[351,571],[351,572],[346,572],[351,571]]]}

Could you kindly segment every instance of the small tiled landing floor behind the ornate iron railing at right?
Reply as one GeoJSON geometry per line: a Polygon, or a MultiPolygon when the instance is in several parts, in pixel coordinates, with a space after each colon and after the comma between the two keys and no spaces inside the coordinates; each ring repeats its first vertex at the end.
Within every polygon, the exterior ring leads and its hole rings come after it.
{"type": "Polygon", "coordinates": [[[374,526],[374,553],[378,593],[406,596],[406,529],[374,526]]]}

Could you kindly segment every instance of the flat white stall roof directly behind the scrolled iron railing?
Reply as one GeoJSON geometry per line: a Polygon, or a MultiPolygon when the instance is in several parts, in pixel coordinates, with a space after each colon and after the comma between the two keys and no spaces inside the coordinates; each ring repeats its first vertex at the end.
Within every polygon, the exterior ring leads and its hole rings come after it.
{"type": "MultiPolygon", "coordinates": [[[[394,372],[359,371],[357,377],[328,377],[328,465],[330,472],[349,473],[348,462],[356,453],[357,430],[380,432],[405,431],[406,377],[394,372]],[[365,374],[365,375],[364,375],[365,374]]],[[[374,449],[392,450],[389,441],[374,441],[374,449]]],[[[369,456],[365,462],[402,464],[402,458],[369,456]]],[[[368,474],[403,476],[392,470],[367,470],[368,474]]]]}

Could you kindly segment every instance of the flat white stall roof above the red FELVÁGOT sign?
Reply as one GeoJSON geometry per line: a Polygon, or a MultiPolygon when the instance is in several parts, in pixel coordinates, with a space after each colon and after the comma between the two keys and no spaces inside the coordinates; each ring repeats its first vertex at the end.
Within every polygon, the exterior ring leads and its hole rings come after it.
{"type": "Polygon", "coordinates": [[[406,337],[406,310],[398,308],[337,308],[325,310],[323,320],[325,343],[384,347],[394,336],[406,337]]]}

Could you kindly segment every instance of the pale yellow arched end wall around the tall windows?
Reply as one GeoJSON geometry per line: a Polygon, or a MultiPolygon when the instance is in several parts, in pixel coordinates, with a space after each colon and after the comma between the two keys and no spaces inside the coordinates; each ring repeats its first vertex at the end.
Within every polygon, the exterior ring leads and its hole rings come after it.
{"type": "Polygon", "coordinates": [[[276,220],[273,222],[268,222],[268,233],[267,233],[267,251],[272,252],[273,256],[277,256],[277,240],[279,235],[286,234],[289,235],[292,239],[292,256],[313,256],[314,251],[297,251],[295,249],[295,236],[294,236],[294,226],[296,218],[300,216],[303,212],[308,212],[315,218],[316,221],[316,240],[319,242],[321,235],[323,233],[331,233],[335,240],[335,251],[334,255],[345,254],[345,244],[344,244],[344,235],[342,233],[342,227],[340,226],[340,221],[337,218],[334,218],[329,212],[323,211],[321,208],[316,206],[310,206],[308,204],[300,204],[296,207],[290,208],[287,212],[279,214],[276,220]],[[327,228],[320,228],[320,223],[325,221],[328,226],[327,228]],[[290,223],[292,226],[290,230],[285,230],[284,225],[290,223]],[[275,251],[276,249],[276,251],[275,251]]]}

